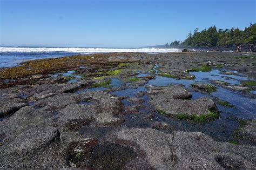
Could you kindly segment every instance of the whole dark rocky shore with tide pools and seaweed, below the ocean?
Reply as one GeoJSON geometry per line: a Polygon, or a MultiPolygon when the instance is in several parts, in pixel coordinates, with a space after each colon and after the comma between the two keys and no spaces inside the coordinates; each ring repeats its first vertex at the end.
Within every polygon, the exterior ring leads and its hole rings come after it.
{"type": "Polygon", "coordinates": [[[256,55],[106,53],[0,70],[0,169],[254,169],[256,55]]]}

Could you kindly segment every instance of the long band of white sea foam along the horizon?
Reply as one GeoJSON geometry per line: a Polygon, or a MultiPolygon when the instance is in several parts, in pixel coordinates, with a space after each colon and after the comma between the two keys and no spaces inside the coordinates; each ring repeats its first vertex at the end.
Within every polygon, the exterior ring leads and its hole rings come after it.
{"type": "Polygon", "coordinates": [[[139,49],[114,49],[114,48],[83,48],[83,47],[0,47],[0,52],[74,52],[74,53],[106,53],[106,52],[146,52],[163,53],[178,52],[179,49],[139,48],[139,49]]]}

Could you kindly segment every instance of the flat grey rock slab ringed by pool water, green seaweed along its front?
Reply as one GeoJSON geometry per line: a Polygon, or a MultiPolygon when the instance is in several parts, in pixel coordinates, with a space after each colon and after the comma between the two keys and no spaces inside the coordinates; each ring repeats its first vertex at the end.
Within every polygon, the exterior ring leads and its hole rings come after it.
{"type": "Polygon", "coordinates": [[[150,103],[163,110],[166,115],[175,114],[207,114],[215,108],[214,101],[207,97],[196,100],[184,100],[191,97],[191,93],[179,85],[168,87],[147,87],[150,103]]]}

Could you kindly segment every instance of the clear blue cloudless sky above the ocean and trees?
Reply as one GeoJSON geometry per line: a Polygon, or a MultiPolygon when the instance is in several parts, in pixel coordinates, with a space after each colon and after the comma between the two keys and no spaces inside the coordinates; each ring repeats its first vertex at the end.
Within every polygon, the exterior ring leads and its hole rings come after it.
{"type": "Polygon", "coordinates": [[[0,0],[0,46],[142,47],[256,23],[256,0],[0,0]]]}

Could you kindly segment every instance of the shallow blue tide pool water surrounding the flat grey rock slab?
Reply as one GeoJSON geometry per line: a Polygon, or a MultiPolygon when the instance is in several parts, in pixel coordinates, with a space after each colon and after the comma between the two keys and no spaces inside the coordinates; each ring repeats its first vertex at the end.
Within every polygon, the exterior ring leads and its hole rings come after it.
{"type": "MultiPolygon", "coordinates": [[[[143,104],[140,104],[138,108],[138,113],[126,113],[125,114],[125,123],[127,127],[152,127],[154,122],[165,122],[171,125],[172,130],[162,130],[165,132],[171,132],[173,130],[180,130],[186,132],[203,132],[216,140],[229,141],[233,140],[232,132],[239,126],[238,120],[240,119],[256,119],[256,99],[255,98],[246,98],[241,95],[239,92],[230,91],[224,89],[223,87],[217,86],[217,91],[208,94],[206,92],[195,91],[192,87],[192,83],[211,83],[212,80],[222,80],[230,83],[230,85],[240,84],[241,80],[252,80],[239,72],[233,72],[235,75],[224,74],[224,70],[212,70],[210,72],[190,72],[196,76],[194,80],[186,79],[173,79],[167,77],[158,76],[157,68],[158,65],[154,67],[156,72],[156,78],[151,79],[147,84],[143,86],[129,86],[129,83],[123,84],[122,81],[118,79],[112,79],[113,87],[119,87],[122,85],[128,86],[127,89],[110,92],[111,94],[118,97],[136,97],[136,94],[139,92],[146,92],[147,85],[154,86],[168,86],[170,84],[183,84],[188,91],[191,92],[191,100],[196,100],[200,97],[209,97],[214,101],[225,100],[234,105],[233,108],[226,108],[217,104],[217,109],[220,111],[220,118],[214,121],[211,121],[206,124],[194,124],[189,121],[178,121],[174,118],[165,117],[156,113],[155,109],[149,104],[149,99],[147,95],[140,97],[144,100],[143,104]],[[151,118],[151,115],[152,116],[151,118]],[[150,117],[150,119],[148,119],[150,117]],[[146,118],[146,119],[145,119],[146,118]],[[153,120],[153,121],[152,121],[153,120]]],[[[138,76],[146,76],[147,74],[139,74],[138,76]]],[[[87,89],[87,91],[95,90],[106,90],[106,88],[92,88],[87,89]]],[[[254,91],[251,91],[252,93],[254,91]]],[[[122,100],[124,105],[124,112],[129,111],[129,107],[134,107],[138,104],[133,104],[127,101],[126,99],[122,100]]],[[[217,103],[217,102],[215,102],[217,103]]],[[[131,108],[132,110],[132,108],[131,108]]]]}

